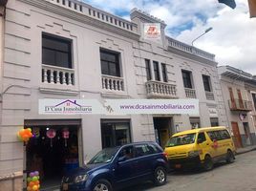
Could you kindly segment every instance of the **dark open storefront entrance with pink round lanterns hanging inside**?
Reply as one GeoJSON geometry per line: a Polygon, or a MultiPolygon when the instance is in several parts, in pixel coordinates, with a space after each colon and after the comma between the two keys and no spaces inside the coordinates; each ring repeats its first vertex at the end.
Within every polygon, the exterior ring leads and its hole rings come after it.
{"type": "Polygon", "coordinates": [[[27,125],[33,138],[26,145],[26,171],[38,171],[40,190],[59,187],[62,176],[79,166],[78,125],[27,125]]]}

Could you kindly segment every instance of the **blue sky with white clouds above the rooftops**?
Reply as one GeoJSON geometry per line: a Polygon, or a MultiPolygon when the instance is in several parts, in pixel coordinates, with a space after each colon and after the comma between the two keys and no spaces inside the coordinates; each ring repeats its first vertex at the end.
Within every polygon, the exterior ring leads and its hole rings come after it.
{"type": "Polygon", "coordinates": [[[256,75],[256,18],[250,18],[247,0],[235,0],[233,10],[218,0],[81,0],[103,11],[130,20],[138,8],[161,20],[165,34],[214,53],[219,66],[229,65],[256,75]]]}

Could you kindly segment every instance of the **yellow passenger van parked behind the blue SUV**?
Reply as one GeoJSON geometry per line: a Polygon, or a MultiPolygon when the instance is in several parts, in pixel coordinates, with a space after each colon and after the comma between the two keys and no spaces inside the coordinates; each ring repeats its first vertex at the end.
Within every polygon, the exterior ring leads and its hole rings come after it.
{"type": "Polygon", "coordinates": [[[220,160],[235,159],[235,147],[225,127],[206,127],[173,135],[165,149],[171,168],[202,166],[211,170],[220,160]]]}

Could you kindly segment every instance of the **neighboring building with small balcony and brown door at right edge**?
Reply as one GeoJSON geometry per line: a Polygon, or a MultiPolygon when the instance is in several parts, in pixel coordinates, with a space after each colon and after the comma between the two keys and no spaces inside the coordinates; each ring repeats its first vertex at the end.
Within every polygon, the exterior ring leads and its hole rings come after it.
{"type": "Polygon", "coordinates": [[[255,78],[251,74],[230,66],[219,67],[218,72],[225,100],[228,126],[232,130],[236,147],[256,144],[255,78]]]}

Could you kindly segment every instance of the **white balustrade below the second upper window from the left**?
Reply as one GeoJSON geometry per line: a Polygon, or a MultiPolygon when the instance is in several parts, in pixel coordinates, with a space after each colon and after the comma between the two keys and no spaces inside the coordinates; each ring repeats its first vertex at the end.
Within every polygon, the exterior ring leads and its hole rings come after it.
{"type": "Polygon", "coordinates": [[[101,75],[102,89],[111,91],[124,91],[123,78],[111,75],[101,75]]]}

